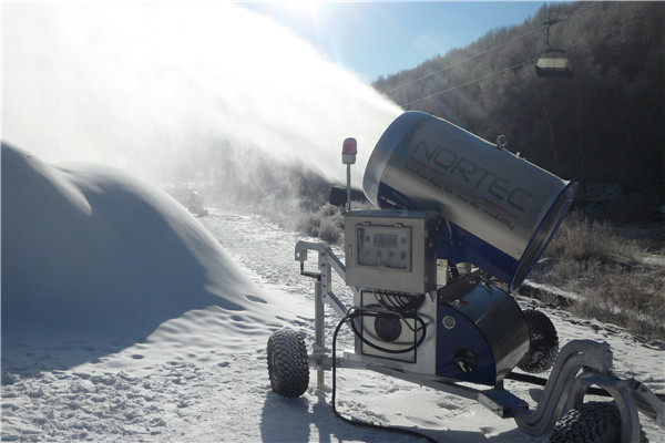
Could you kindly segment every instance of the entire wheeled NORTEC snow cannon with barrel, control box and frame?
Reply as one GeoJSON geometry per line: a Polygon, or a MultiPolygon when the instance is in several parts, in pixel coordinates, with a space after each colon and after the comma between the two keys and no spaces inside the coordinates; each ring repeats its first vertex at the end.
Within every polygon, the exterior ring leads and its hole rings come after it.
{"type": "MultiPolygon", "coordinates": [[[[293,329],[269,338],[276,393],[301,395],[309,368],[323,393],[324,371],[332,371],[335,387],[336,370],[354,368],[475,400],[528,434],[554,430],[556,442],[580,432],[573,419],[556,424],[564,408],[575,421],[597,422],[600,414],[620,423],[608,429],[621,441],[640,441],[638,410],[665,427],[664,403],[642,383],[613,374],[606,343],[575,340],[560,350],[552,321],[523,311],[511,296],[556,231],[576,183],[504,147],[504,137],[492,144],[422,112],[406,112],[389,125],[364,176],[378,209],[346,213],[344,259],[324,241],[296,245],[300,274],[315,279],[314,347],[308,353],[293,329]],[[315,270],[305,267],[309,251],[315,270]],[[332,290],[332,270],[350,288],[351,307],[332,290]],[[331,349],[325,305],[341,319],[331,349]],[[338,356],[345,324],[354,349],[338,356]],[[530,374],[548,370],[549,379],[530,374]],[[507,391],[505,379],[544,385],[538,408],[507,391]],[[585,394],[613,402],[584,403],[585,394]]],[[[349,167],[355,158],[347,152],[344,163],[349,167]]],[[[350,174],[347,181],[350,189],[350,174]]],[[[335,388],[331,405],[335,411],[335,388]]]]}

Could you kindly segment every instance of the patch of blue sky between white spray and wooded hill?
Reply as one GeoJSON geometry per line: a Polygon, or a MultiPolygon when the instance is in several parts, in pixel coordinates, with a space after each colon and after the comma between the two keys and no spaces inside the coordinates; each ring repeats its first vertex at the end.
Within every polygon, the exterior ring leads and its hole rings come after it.
{"type": "Polygon", "coordinates": [[[367,82],[390,75],[450,49],[463,48],[487,31],[524,20],[543,1],[246,2],[270,16],[344,69],[367,82]]]}

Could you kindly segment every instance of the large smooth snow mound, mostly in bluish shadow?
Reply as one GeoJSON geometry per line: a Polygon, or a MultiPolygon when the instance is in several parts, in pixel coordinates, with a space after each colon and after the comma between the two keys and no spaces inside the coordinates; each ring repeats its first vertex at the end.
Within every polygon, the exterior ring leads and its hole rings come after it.
{"type": "Polygon", "coordinates": [[[2,143],[3,361],[38,329],[103,338],[114,351],[208,307],[266,323],[268,299],[158,187],[108,166],[51,166],[2,143]]]}

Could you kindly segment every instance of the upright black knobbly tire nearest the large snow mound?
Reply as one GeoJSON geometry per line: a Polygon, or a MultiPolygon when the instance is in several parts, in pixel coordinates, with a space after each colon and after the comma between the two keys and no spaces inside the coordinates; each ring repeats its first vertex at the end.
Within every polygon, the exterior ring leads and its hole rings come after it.
{"type": "Polygon", "coordinates": [[[288,328],[275,331],[268,339],[267,354],[273,391],[282,396],[303,395],[309,384],[307,348],[303,337],[288,328]]]}

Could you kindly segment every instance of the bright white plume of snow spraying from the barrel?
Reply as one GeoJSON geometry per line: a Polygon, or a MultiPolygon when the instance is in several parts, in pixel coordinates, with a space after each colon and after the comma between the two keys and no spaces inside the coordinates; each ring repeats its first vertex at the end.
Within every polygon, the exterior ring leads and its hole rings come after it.
{"type": "Polygon", "coordinates": [[[264,193],[307,169],[344,182],[341,142],[354,136],[359,184],[400,113],[236,4],[18,2],[3,14],[3,138],[48,162],[235,186],[257,178],[248,162],[260,158],[275,176],[259,177],[264,193]]]}

